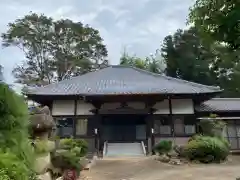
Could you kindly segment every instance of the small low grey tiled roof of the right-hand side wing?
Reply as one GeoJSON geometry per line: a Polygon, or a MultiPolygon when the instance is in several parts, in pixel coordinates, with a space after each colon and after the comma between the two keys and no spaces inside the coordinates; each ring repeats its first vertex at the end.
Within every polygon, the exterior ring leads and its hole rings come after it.
{"type": "Polygon", "coordinates": [[[213,98],[196,108],[200,112],[240,111],[240,98],[213,98]]]}

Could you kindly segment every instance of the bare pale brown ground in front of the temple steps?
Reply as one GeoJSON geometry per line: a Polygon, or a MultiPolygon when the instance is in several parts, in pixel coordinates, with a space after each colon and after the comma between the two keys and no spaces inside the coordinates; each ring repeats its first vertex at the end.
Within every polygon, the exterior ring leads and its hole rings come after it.
{"type": "Polygon", "coordinates": [[[235,180],[240,177],[239,163],[173,166],[152,158],[98,160],[85,180],[235,180]]]}

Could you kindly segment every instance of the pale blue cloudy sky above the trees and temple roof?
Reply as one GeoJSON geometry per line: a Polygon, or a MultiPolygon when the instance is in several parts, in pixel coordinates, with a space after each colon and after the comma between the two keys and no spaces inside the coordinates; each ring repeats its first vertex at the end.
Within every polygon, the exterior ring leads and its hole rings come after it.
{"type": "MultiPolygon", "coordinates": [[[[118,64],[125,48],[144,57],[160,48],[165,36],[184,28],[188,9],[194,0],[1,0],[0,33],[7,24],[30,11],[55,19],[70,18],[100,31],[111,64],[118,64]]],[[[24,60],[16,48],[0,48],[4,77],[13,83],[11,71],[24,60]]]]}

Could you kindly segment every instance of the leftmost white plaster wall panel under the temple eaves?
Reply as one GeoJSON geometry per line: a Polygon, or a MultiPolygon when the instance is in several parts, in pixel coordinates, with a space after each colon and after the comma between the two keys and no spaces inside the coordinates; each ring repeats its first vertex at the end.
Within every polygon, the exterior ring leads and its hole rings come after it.
{"type": "Polygon", "coordinates": [[[73,100],[54,100],[52,104],[52,115],[74,115],[73,100]]]}

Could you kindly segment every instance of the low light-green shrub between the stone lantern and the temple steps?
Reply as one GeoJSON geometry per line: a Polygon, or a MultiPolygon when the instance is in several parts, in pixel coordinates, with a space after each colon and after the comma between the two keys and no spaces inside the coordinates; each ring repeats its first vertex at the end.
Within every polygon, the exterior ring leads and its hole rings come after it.
{"type": "Polygon", "coordinates": [[[59,146],[61,149],[66,149],[75,153],[78,157],[83,157],[87,154],[88,144],[82,139],[65,138],[61,139],[59,146]]]}

